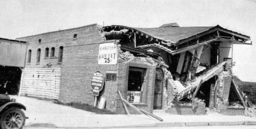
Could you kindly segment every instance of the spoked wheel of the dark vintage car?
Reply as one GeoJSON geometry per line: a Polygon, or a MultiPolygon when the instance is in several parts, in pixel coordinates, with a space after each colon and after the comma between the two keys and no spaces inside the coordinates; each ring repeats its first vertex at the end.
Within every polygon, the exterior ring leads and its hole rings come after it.
{"type": "Polygon", "coordinates": [[[6,110],[0,118],[2,129],[22,128],[25,124],[25,114],[22,110],[12,107],[6,110]]]}

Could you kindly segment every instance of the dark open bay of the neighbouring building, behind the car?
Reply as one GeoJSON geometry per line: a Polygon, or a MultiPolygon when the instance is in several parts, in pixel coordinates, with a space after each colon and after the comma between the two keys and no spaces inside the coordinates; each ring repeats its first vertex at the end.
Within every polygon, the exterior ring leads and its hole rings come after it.
{"type": "Polygon", "coordinates": [[[0,94],[17,95],[22,70],[18,67],[0,66],[0,94]]]}

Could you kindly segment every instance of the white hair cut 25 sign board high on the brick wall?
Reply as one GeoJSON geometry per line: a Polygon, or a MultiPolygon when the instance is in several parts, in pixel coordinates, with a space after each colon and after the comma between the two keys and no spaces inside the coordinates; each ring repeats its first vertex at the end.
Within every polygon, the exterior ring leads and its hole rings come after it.
{"type": "Polygon", "coordinates": [[[117,64],[117,45],[114,42],[99,45],[98,65],[117,64]]]}

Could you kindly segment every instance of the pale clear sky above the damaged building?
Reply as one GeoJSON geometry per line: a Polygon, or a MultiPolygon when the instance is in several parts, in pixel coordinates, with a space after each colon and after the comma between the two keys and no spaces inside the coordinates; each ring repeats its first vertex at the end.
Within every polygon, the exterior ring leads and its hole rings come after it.
{"type": "Polygon", "coordinates": [[[7,1],[0,0],[0,37],[15,39],[90,24],[151,28],[167,23],[216,26],[251,37],[234,45],[234,75],[256,82],[256,0],[7,1]]]}

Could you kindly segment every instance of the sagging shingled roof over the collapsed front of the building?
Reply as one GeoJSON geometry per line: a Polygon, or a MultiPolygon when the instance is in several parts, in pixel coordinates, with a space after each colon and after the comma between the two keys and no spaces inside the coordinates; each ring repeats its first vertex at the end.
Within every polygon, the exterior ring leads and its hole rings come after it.
{"type": "Polygon", "coordinates": [[[196,39],[205,34],[209,34],[215,31],[221,31],[224,33],[229,33],[243,40],[250,40],[250,37],[247,35],[243,35],[238,32],[234,32],[231,30],[227,30],[222,28],[221,26],[211,26],[211,27],[178,27],[177,23],[174,24],[165,24],[159,28],[132,28],[126,26],[106,26],[104,28],[123,28],[129,29],[132,31],[136,31],[138,33],[151,36],[152,38],[162,40],[164,42],[170,42],[174,45],[180,45],[187,41],[196,39]]]}

